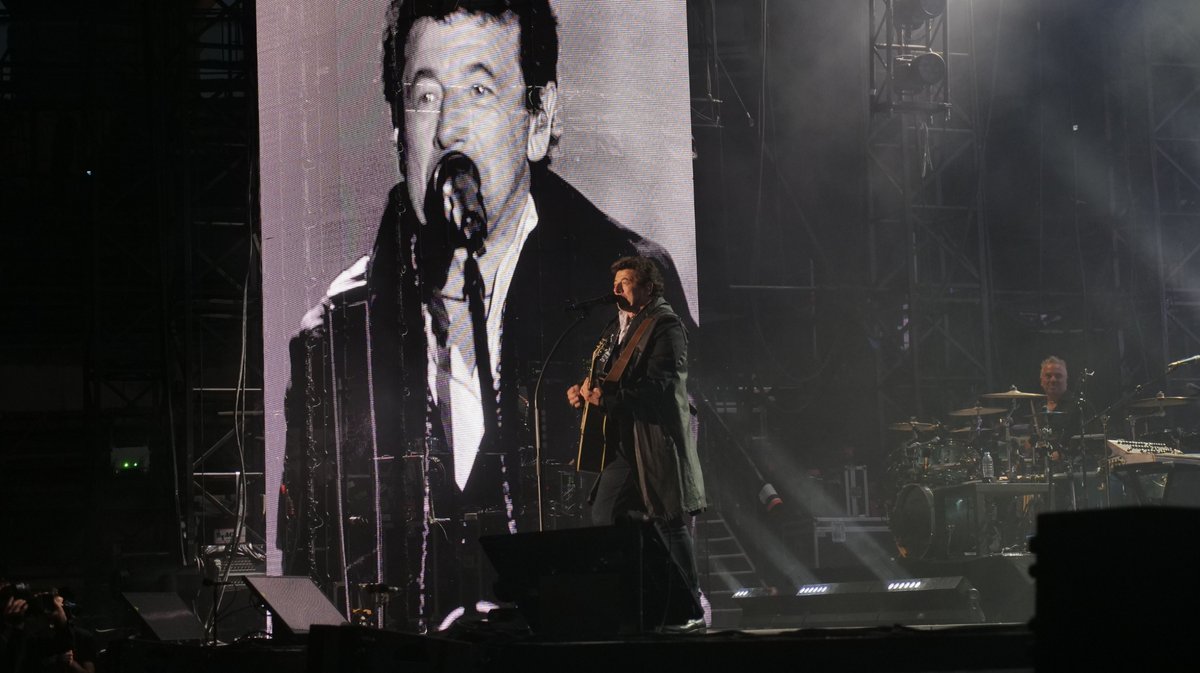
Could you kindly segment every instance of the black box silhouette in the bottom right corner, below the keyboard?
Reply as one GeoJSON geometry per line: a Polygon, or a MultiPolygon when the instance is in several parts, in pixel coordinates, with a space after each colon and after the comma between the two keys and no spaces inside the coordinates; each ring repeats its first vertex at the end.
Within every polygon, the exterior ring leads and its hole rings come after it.
{"type": "Polygon", "coordinates": [[[1038,669],[1082,668],[1082,653],[1103,653],[1105,669],[1194,671],[1198,539],[1200,510],[1194,507],[1038,517],[1032,541],[1038,669]]]}

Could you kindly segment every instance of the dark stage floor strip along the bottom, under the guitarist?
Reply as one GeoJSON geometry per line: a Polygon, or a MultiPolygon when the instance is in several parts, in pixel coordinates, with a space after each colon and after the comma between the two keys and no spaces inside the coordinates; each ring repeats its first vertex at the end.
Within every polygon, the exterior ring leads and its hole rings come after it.
{"type": "Polygon", "coordinates": [[[314,626],[306,643],[224,647],[126,641],[110,671],[272,673],[504,671],[1032,672],[1024,624],[709,631],[685,636],[540,639],[485,630],[414,636],[314,626]]]}

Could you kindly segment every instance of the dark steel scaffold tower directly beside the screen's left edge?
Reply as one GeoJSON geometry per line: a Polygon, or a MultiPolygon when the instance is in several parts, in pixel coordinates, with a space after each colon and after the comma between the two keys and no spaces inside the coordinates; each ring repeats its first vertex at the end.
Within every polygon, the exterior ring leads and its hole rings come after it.
{"type": "Polygon", "coordinates": [[[170,253],[184,298],[172,316],[180,534],[188,563],[228,572],[265,553],[254,4],[200,4],[184,18],[170,253]]]}

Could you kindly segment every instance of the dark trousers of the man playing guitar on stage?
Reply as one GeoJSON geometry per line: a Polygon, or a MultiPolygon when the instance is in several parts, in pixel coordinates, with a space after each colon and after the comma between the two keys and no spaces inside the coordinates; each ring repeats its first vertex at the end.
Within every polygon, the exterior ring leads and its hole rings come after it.
{"type": "MultiPolygon", "coordinates": [[[[642,501],[642,492],[637,486],[637,470],[629,464],[625,456],[618,455],[612,462],[605,465],[596,483],[595,499],[592,501],[593,525],[612,525],[618,521],[646,516],[646,504],[642,501]]],[[[683,572],[684,581],[691,589],[691,594],[700,601],[700,576],[696,572],[696,554],[691,541],[691,530],[684,517],[662,519],[655,517],[654,527],[658,528],[662,540],[667,543],[667,552],[683,572]]]]}

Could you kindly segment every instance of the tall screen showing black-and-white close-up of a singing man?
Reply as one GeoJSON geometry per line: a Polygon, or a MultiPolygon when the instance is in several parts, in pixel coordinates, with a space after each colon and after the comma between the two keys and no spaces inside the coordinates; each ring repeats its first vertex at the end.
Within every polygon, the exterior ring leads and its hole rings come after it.
{"type": "Polygon", "coordinates": [[[698,322],[684,2],[259,2],[258,28],[269,569],[436,629],[491,597],[480,535],[583,522],[563,391],[614,308],[551,356],[568,305],[643,254],[698,322]]]}

